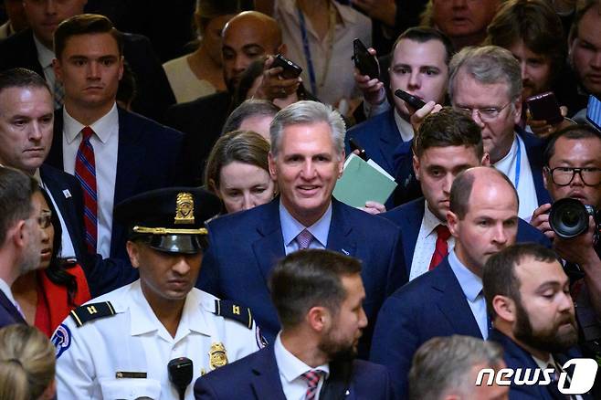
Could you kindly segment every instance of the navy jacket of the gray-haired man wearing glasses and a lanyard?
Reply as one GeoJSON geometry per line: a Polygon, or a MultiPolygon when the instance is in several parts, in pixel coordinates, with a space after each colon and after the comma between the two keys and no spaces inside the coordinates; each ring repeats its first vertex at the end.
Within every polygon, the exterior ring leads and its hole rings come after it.
{"type": "MultiPolygon", "coordinates": [[[[520,135],[526,147],[538,205],[551,203],[551,196],[544,188],[543,183],[543,151],[546,142],[532,133],[525,132],[518,126],[515,127],[515,132],[520,135]]],[[[419,182],[416,179],[416,173],[413,170],[412,144],[413,141],[402,142],[396,147],[393,155],[395,170],[392,175],[398,184],[396,192],[404,194],[402,197],[395,198],[396,204],[403,204],[423,195],[419,187],[419,182]]]]}

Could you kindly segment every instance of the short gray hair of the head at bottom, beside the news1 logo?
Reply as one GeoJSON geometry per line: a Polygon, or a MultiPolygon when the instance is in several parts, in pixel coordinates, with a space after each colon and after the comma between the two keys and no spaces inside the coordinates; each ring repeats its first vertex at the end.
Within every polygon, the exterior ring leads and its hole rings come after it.
{"type": "Polygon", "coordinates": [[[413,357],[409,399],[436,400],[451,393],[468,397],[476,383],[473,367],[497,369],[502,361],[501,346],[494,342],[459,335],[430,339],[413,357]]]}

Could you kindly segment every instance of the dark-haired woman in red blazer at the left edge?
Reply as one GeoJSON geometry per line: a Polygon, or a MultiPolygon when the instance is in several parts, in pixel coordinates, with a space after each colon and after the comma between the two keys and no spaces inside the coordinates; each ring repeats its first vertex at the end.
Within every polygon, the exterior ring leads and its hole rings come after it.
{"type": "Polygon", "coordinates": [[[62,229],[52,200],[42,190],[33,202],[42,210],[40,265],[16,279],[11,289],[27,323],[50,337],[69,311],[90,300],[90,289],[75,259],[58,258],[62,229]]]}

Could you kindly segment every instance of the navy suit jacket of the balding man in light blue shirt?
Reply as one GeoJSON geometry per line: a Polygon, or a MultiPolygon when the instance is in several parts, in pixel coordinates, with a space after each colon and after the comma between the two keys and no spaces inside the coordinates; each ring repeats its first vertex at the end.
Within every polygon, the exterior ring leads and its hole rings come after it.
{"type": "Polygon", "coordinates": [[[388,367],[395,393],[407,398],[407,375],[417,348],[436,336],[482,338],[468,300],[444,258],[385,300],[375,324],[370,361],[388,367]]]}

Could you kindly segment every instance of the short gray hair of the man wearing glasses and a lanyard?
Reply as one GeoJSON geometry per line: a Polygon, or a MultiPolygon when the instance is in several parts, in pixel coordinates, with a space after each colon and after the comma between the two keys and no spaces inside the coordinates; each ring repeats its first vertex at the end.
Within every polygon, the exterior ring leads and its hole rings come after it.
{"type": "Polygon", "coordinates": [[[506,48],[498,46],[464,47],[457,53],[448,66],[448,96],[453,102],[453,95],[459,71],[483,85],[504,83],[510,100],[522,95],[522,69],[520,64],[506,48]]]}

